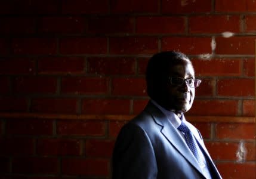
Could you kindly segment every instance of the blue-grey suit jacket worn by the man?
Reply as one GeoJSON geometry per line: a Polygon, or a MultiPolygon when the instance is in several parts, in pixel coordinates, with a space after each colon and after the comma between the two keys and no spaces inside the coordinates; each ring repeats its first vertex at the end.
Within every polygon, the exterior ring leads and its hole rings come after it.
{"type": "MultiPolygon", "coordinates": [[[[189,122],[186,124],[197,131],[189,122]]],[[[196,133],[212,178],[221,178],[201,134],[196,133]]],[[[121,129],[113,150],[112,166],[113,179],[206,178],[180,132],[151,102],[121,129]]]]}

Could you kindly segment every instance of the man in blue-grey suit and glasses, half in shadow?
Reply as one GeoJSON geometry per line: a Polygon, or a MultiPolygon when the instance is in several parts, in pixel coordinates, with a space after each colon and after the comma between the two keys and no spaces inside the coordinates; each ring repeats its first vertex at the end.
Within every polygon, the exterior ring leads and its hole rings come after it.
{"type": "Polygon", "coordinates": [[[201,81],[183,53],[162,52],[146,70],[146,108],[128,122],[113,150],[113,179],[221,178],[199,131],[186,121],[201,81]]]}

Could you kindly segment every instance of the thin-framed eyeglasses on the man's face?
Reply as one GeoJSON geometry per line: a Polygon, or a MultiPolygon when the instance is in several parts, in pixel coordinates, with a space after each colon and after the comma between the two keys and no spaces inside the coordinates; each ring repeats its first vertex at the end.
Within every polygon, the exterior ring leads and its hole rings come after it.
{"type": "Polygon", "coordinates": [[[199,87],[199,85],[202,82],[200,79],[193,79],[193,78],[184,79],[181,77],[169,77],[169,81],[171,82],[172,85],[175,85],[175,86],[181,86],[184,84],[184,82],[186,82],[186,84],[191,88],[199,87]]]}

